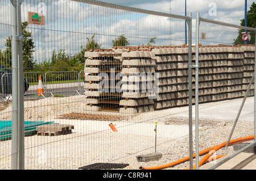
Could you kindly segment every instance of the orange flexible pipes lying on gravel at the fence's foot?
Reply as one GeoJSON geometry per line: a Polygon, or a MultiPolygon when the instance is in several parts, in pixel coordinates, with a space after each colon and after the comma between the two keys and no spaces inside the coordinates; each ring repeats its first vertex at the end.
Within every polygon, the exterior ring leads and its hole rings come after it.
{"type": "MultiPolygon", "coordinates": [[[[250,140],[253,140],[253,139],[254,139],[254,136],[247,136],[247,137],[243,137],[243,138],[237,138],[237,139],[234,139],[234,140],[230,140],[229,145],[234,145],[234,144],[237,144],[237,143],[240,143],[240,142],[250,141],[250,140]]],[[[200,151],[199,155],[203,155],[203,154],[206,154],[206,153],[208,153],[208,154],[199,162],[199,167],[201,165],[203,165],[203,163],[205,163],[208,160],[208,158],[215,151],[217,151],[218,149],[220,149],[224,146],[226,146],[226,142],[224,142],[220,145],[212,146],[212,147],[210,147],[208,149],[205,149],[203,151],[200,151]]],[[[193,154],[193,158],[195,158],[195,157],[196,157],[196,154],[193,154]]],[[[139,167],[139,169],[141,169],[141,170],[161,170],[161,169],[166,169],[167,167],[173,167],[175,165],[179,165],[180,163],[183,163],[183,162],[186,162],[186,161],[189,161],[189,156],[185,157],[185,158],[182,158],[182,159],[179,159],[178,161],[175,161],[175,162],[172,162],[172,163],[167,163],[166,165],[153,166],[153,167],[139,167]]],[[[193,169],[195,169],[195,165],[193,166],[193,169]]]]}

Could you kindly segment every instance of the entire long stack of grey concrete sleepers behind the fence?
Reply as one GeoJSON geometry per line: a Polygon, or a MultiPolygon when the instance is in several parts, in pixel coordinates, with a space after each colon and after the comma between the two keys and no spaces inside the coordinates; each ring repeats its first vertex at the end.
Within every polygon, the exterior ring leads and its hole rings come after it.
{"type": "MultiPolygon", "coordinates": [[[[199,50],[199,103],[243,96],[254,72],[255,47],[220,45],[202,46],[199,50]]],[[[195,47],[192,53],[195,64],[195,47]]],[[[93,50],[86,52],[85,57],[90,57],[85,61],[85,71],[90,73],[85,77],[85,89],[89,90],[85,92],[88,98],[86,110],[101,109],[99,101],[102,102],[102,93],[98,91],[98,83],[102,79],[97,74],[109,68],[121,73],[121,92],[117,102],[113,96],[104,99],[109,103],[116,102],[120,113],[133,114],[188,105],[187,47],[133,47],[110,49],[108,52],[93,50]],[[111,53],[114,55],[110,56],[111,53]],[[143,74],[146,78],[142,77],[143,74]],[[148,92],[149,82],[152,92],[148,92]]],[[[192,73],[195,89],[195,69],[192,73]]],[[[253,90],[254,85],[250,95],[253,95],[253,90]]]]}

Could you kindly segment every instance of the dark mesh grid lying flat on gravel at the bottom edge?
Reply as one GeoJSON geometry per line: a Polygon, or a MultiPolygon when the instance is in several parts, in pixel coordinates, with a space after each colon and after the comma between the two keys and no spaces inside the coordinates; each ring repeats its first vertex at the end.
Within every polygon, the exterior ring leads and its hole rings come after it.
{"type": "Polygon", "coordinates": [[[128,165],[129,164],[123,164],[123,163],[93,163],[92,165],[79,167],[79,169],[83,169],[83,170],[123,169],[128,165]]]}

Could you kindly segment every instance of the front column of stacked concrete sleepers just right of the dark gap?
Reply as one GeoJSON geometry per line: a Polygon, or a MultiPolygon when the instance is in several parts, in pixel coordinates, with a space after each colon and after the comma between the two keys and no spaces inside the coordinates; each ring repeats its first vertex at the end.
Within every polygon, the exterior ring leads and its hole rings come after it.
{"type": "Polygon", "coordinates": [[[136,48],[122,52],[122,100],[120,113],[154,111],[155,59],[151,49],[136,48]],[[148,91],[148,88],[151,91],[148,91]]]}

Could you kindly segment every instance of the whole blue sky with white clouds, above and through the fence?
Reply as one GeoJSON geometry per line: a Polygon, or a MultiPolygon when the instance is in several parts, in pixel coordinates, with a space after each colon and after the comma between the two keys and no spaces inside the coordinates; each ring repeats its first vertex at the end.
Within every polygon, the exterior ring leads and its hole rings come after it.
{"type": "MultiPolygon", "coordinates": [[[[185,0],[101,0],[102,2],[130,6],[151,11],[185,15],[185,0]]],[[[247,0],[247,10],[253,0],[247,0]]],[[[0,1],[0,49],[11,34],[10,1],[0,1]]],[[[156,37],[154,45],[182,45],[185,39],[185,21],[161,16],[108,9],[69,0],[24,0],[21,6],[22,21],[28,20],[28,12],[43,12],[45,25],[29,24],[28,31],[36,48],[34,57],[41,62],[51,57],[53,50],[65,49],[67,53],[78,53],[81,45],[95,35],[102,48],[111,48],[112,40],[124,34],[129,45],[147,44],[156,37]]],[[[192,12],[192,43],[195,43],[195,17],[199,12],[203,18],[240,25],[245,17],[243,0],[187,0],[187,14],[192,12]]],[[[205,44],[232,43],[237,29],[200,24],[200,31],[207,35],[205,44]]]]}

